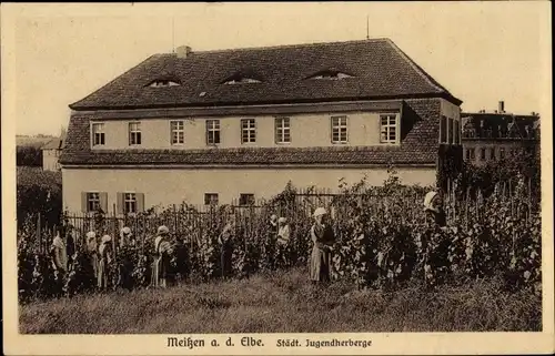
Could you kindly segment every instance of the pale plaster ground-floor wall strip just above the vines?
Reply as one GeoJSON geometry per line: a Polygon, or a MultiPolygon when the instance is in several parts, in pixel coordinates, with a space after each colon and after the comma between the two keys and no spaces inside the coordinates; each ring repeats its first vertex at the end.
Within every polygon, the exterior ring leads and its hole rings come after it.
{"type": "MultiPolygon", "coordinates": [[[[402,182],[435,184],[435,167],[397,167],[402,182]]],[[[373,185],[387,179],[380,169],[63,169],[63,205],[70,212],[81,211],[83,192],[108,193],[108,206],[117,204],[117,193],[144,194],[144,207],[186,202],[204,204],[204,193],[218,193],[220,204],[252,193],[255,199],[269,199],[283,191],[291,180],[294,186],[337,190],[340,179],[360,182],[364,175],[373,185]]]]}

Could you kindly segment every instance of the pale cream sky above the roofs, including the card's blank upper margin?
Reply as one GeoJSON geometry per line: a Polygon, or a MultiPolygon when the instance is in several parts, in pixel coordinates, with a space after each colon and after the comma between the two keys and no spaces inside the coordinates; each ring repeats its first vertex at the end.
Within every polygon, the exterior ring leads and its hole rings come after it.
{"type": "Polygon", "coordinates": [[[366,28],[370,38],[392,39],[464,111],[503,100],[509,112],[551,115],[547,2],[10,6],[17,134],[59,134],[69,104],[173,47],[362,40],[366,28]]]}

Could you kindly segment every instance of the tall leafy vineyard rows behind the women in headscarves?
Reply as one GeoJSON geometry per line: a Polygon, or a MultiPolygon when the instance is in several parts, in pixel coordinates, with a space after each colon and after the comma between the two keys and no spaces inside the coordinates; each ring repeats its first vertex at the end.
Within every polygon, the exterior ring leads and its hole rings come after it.
{"type": "MultiPolygon", "coordinates": [[[[132,269],[132,286],[150,285],[150,266],[155,228],[164,224],[173,241],[173,283],[196,284],[220,276],[218,236],[233,214],[235,243],[233,275],[236,279],[272,269],[305,266],[312,248],[309,230],[316,206],[326,206],[333,218],[336,242],[333,278],[357,289],[400,291],[420,284],[428,291],[441,285],[462,286],[481,279],[501,281],[507,292],[528,291],[541,295],[541,217],[524,179],[511,186],[497,184],[483,196],[480,190],[461,191],[453,182],[444,199],[447,227],[426,220],[422,199],[426,189],[404,186],[395,176],[383,186],[364,182],[341,194],[299,192],[289,185],[283,193],[253,206],[211,206],[204,211],[188,206],[152,208],[134,216],[65,215],[72,226],[75,255],[64,281],[57,281],[47,253],[52,236],[28,224],[18,238],[18,275],[21,303],[61,295],[94,293],[87,274],[83,236],[95,231],[115,238],[129,226],[138,237],[134,247],[117,248],[114,264],[132,269]],[[281,255],[269,243],[271,214],[287,217],[292,238],[281,255]],[[40,231],[40,233],[37,233],[40,231]]],[[[39,224],[40,225],[40,224],[39,224]]],[[[118,285],[114,273],[114,286],[118,285]]]]}

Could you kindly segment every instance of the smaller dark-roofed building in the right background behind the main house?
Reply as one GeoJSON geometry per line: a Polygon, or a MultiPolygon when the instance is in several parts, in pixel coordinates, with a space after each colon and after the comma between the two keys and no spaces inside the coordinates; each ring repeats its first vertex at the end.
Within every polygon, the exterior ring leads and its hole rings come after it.
{"type": "Polygon", "coordinates": [[[539,115],[505,111],[503,101],[495,112],[462,113],[463,157],[475,165],[509,159],[539,148],[539,115]]]}

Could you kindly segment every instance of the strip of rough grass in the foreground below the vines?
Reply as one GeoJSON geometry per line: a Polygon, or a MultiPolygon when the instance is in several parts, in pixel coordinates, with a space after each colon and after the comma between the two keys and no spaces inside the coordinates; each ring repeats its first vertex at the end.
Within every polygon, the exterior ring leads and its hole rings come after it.
{"type": "Polygon", "coordinates": [[[395,293],[317,288],[302,268],[168,289],[81,295],[20,306],[23,334],[526,332],[542,301],[495,282],[395,293]]]}

